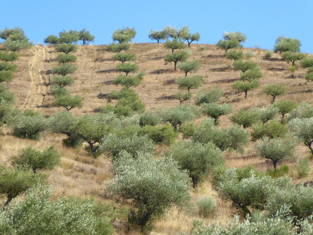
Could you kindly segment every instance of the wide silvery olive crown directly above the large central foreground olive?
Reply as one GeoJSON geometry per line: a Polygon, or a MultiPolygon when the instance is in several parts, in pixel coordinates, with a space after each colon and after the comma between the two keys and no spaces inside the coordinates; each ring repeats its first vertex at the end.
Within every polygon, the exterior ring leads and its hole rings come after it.
{"type": "Polygon", "coordinates": [[[137,157],[140,152],[152,154],[154,145],[147,135],[138,136],[135,134],[131,137],[125,137],[116,133],[110,133],[101,140],[100,149],[109,151],[114,158],[123,150],[133,157],[137,157]]]}

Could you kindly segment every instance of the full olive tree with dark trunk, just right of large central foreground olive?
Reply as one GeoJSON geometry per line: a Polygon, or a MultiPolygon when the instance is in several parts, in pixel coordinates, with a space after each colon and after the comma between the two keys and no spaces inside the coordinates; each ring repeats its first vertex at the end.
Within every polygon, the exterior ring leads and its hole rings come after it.
{"type": "Polygon", "coordinates": [[[179,141],[170,149],[168,155],[178,162],[180,169],[188,170],[192,187],[196,190],[198,183],[203,182],[214,167],[224,163],[222,152],[211,142],[179,141]]]}

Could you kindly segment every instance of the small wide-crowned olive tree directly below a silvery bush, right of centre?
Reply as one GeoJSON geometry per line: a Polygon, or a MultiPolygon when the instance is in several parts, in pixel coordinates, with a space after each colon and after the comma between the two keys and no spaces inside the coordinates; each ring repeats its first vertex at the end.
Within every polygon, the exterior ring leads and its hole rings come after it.
{"type": "Polygon", "coordinates": [[[233,106],[227,103],[223,103],[222,105],[218,105],[217,103],[203,103],[202,112],[214,118],[215,123],[217,123],[220,116],[233,112],[233,106]]]}

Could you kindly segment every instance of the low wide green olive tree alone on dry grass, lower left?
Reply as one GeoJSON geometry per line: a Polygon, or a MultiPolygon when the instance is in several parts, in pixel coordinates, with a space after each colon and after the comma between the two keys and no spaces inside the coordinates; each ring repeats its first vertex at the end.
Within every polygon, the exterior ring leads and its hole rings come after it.
{"type": "Polygon", "coordinates": [[[29,167],[34,173],[37,173],[38,169],[53,170],[56,165],[60,163],[61,155],[54,149],[54,146],[40,151],[29,146],[23,148],[18,152],[18,155],[11,156],[12,165],[29,167]]]}

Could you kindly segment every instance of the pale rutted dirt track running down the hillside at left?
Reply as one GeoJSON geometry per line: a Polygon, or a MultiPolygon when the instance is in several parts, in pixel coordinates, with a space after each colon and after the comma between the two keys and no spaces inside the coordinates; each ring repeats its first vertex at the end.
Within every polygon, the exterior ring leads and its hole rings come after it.
{"type": "Polygon", "coordinates": [[[35,55],[29,61],[28,73],[30,76],[30,86],[28,90],[24,109],[39,107],[44,101],[47,93],[46,82],[41,75],[44,60],[46,59],[46,50],[44,47],[34,46],[35,55]]]}

